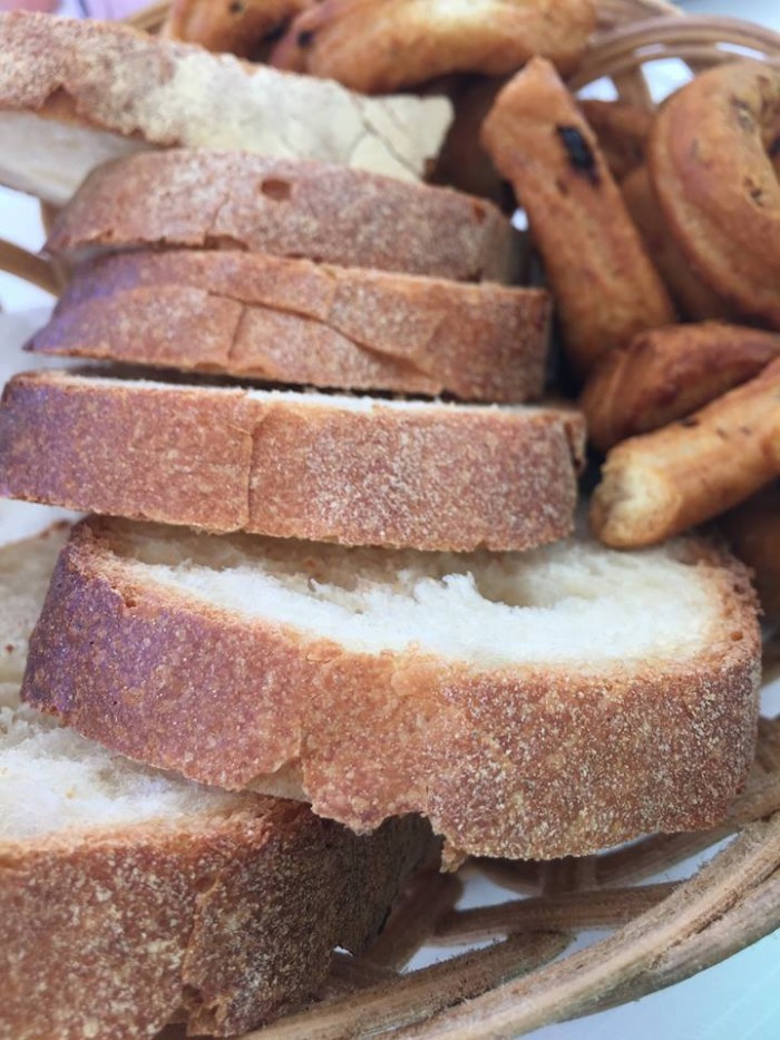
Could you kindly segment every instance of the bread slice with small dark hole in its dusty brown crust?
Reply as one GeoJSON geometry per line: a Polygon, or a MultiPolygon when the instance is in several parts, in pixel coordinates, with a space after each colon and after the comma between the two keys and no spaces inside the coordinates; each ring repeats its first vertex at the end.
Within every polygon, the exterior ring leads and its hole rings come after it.
{"type": "Polygon", "coordinates": [[[451,188],[242,152],[133,155],[92,173],[47,249],[233,249],[454,281],[511,282],[518,236],[501,212],[451,188]]]}

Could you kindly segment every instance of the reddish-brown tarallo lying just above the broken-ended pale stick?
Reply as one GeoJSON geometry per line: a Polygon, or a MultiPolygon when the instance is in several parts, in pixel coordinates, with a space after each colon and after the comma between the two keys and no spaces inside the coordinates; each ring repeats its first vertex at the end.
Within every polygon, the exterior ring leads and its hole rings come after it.
{"type": "Polygon", "coordinates": [[[691,415],[780,357],[780,336],[716,321],[636,337],[596,366],[579,405],[591,441],[606,451],[634,434],[691,415]]]}

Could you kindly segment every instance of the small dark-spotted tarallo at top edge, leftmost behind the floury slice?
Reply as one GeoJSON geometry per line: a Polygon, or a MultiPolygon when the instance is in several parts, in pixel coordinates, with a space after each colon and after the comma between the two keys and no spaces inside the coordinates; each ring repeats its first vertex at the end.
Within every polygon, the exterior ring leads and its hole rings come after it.
{"type": "Polygon", "coordinates": [[[259,48],[283,30],[291,18],[314,0],[175,0],[163,35],[206,50],[254,57],[259,48]]]}

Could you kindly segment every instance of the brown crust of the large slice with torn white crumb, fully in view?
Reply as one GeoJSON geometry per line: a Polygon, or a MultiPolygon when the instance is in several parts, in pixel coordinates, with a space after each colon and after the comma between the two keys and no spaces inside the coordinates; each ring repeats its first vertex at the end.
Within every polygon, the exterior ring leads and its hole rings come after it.
{"type": "Polygon", "coordinates": [[[701,650],[479,669],[232,613],[146,580],[123,538],[131,525],[76,529],[23,696],[130,758],[226,788],[293,781],[360,832],[420,813],[451,851],[510,858],[710,827],[752,761],[754,596],[747,571],[703,541],[677,551],[719,604],[701,650]]]}

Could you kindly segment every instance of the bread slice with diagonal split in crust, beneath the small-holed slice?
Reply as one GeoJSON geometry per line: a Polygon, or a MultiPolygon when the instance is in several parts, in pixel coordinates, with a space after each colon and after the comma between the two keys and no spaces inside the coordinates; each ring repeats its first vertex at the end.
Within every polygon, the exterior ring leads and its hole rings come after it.
{"type": "Polygon", "coordinates": [[[75,274],[38,353],[272,382],[524,401],[544,389],[544,290],[236,252],[136,251],[75,274]]]}

